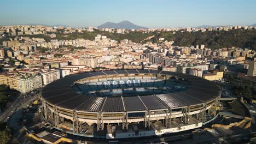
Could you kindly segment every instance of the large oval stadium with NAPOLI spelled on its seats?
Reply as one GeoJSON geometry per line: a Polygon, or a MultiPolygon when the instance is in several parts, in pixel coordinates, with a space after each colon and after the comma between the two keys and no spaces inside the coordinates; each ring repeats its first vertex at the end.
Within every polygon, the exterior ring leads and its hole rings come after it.
{"type": "Polygon", "coordinates": [[[120,139],[177,133],[213,121],[220,88],[160,70],[75,74],[42,91],[44,117],[67,133],[120,139]]]}

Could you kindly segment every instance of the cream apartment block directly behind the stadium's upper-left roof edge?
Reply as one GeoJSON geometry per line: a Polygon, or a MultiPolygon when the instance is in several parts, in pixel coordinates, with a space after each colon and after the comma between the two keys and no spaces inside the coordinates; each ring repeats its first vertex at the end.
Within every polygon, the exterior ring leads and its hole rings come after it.
{"type": "Polygon", "coordinates": [[[41,73],[43,85],[48,85],[49,83],[60,79],[60,70],[49,70],[41,73]]]}

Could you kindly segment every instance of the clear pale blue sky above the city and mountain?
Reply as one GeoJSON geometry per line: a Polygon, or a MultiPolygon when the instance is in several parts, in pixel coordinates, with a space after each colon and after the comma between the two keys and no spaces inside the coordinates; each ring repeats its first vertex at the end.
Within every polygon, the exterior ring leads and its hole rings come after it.
{"type": "Polygon", "coordinates": [[[3,0],[0,6],[0,25],[96,27],[128,20],[174,28],[256,23],[255,0],[3,0]]]}

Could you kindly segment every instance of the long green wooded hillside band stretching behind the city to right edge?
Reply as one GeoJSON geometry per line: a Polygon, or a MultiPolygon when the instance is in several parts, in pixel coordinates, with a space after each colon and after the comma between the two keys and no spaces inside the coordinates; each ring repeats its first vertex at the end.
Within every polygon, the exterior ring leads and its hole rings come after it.
{"type": "MultiPolygon", "coordinates": [[[[144,39],[155,35],[150,39],[154,43],[159,43],[159,38],[165,38],[165,40],[174,41],[174,45],[178,46],[195,46],[205,44],[206,47],[211,49],[219,49],[220,47],[241,47],[256,50],[256,30],[234,29],[231,31],[211,31],[211,32],[130,32],[126,34],[109,33],[96,30],[95,32],[83,33],[56,33],[57,39],[89,39],[94,40],[97,34],[106,35],[107,38],[122,40],[129,39],[135,43],[140,43],[144,39]]],[[[147,40],[143,41],[146,42],[147,40]]]]}

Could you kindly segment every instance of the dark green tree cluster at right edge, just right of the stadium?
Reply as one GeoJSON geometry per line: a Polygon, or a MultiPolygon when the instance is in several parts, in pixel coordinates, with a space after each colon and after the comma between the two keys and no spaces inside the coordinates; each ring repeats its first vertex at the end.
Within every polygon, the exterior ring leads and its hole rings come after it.
{"type": "Polygon", "coordinates": [[[253,88],[253,83],[249,80],[235,77],[231,74],[225,74],[225,79],[231,85],[231,91],[238,97],[246,99],[256,99],[256,91],[253,88]]]}

